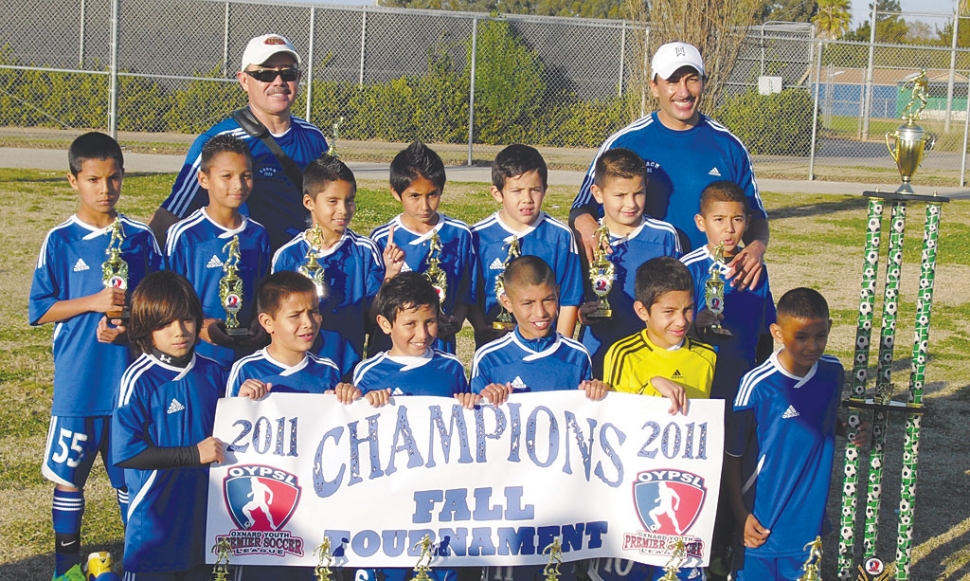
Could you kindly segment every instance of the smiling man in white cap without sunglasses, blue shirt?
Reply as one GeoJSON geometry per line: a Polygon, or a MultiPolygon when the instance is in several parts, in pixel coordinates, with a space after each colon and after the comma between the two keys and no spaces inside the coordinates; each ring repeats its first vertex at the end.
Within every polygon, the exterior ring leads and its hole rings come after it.
{"type": "Polygon", "coordinates": [[[608,149],[632,149],[647,164],[649,182],[644,213],[677,228],[684,252],[707,243],[694,224],[701,191],[711,182],[731,180],[744,189],[751,211],[745,247],[732,265],[739,287],[761,276],[768,245],[768,216],[758,194],[751,158],[723,125],[697,110],[704,94],[704,61],[697,48],[672,42],[657,49],[651,63],[650,90],[660,108],[611,135],[596,153],[573,202],[571,221],[587,257],[596,244],[596,219],[602,207],[590,192],[596,159],[608,149]]]}

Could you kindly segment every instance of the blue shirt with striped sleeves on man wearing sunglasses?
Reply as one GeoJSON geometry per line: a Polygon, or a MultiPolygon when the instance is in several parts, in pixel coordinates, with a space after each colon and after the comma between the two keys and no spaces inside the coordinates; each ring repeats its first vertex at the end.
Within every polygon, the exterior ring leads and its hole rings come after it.
{"type": "MultiPolygon", "coordinates": [[[[272,138],[303,171],[311,161],[326,153],[329,146],[323,133],[313,124],[298,117],[290,117],[290,121],[286,133],[272,138]]],[[[220,121],[192,143],[172,193],[162,207],[178,218],[185,218],[209,204],[209,194],[199,186],[196,176],[202,165],[202,147],[223,133],[231,133],[243,140],[252,152],[253,191],[242,211],[265,226],[272,248],[279,248],[306,228],[308,213],[303,207],[303,192],[290,181],[273,152],[261,140],[243,131],[232,117],[220,121]]]]}

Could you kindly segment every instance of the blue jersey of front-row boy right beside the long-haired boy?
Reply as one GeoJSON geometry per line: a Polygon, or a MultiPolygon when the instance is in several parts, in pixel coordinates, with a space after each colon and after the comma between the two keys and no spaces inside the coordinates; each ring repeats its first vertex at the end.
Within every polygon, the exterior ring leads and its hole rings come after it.
{"type": "Polygon", "coordinates": [[[271,393],[323,393],[340,383],[340,370],[333,361],[313,353],[289,366],[273,359],[267,349],[260,349],[233,364],[226,397],[238,396],[247,379],[273,384],[271,393]]]}

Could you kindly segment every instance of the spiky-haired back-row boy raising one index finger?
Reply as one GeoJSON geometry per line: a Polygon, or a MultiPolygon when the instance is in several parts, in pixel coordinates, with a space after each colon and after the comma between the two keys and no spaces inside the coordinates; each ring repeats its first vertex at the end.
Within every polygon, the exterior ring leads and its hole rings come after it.
{"type": "MultiPolygon", "coordinates": [[[[438,338],[434,347],[455,352],[455,333],[474,301],[475,248],[468,225],[438,212],[445,187],[441,157],[420,141],[398,153],[391,161],[391,195],[403,212],[374,230],[370,237],[383,252],[393,244],[403,252],[401,271],[426,272],[431,253],[440,261],[446,289],[441,297],[438,338]],[[432,239],[438,248],[432,248],[432,239]]],[[[390,348],[387,336],[374,333],[371,352],[390,348]]]]}

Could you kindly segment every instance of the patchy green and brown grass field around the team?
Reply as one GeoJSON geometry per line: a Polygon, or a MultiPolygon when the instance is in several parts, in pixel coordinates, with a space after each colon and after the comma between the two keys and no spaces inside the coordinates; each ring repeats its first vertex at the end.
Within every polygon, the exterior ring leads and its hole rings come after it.
{"type": "MultiPolygon", "coordinates": [[[[167,195],[174,177],[128,175],[118,208],[147,221],[167,195]]],[[[572,188],[551,187],[544,208],[563,218],[574,193],[572,188]]],[[[865,237],[865,201],[858,196],[770,192],[763,193],[763,197],[772,220],[766,261],[775,297],[795,286],[820,290],[832,307],[834,330],[829,352],[849,367],[865,237]]],[[[27,325],[27,296],[44,235],[73,213],[76,203],[62,172],[0,170],[0,390],[5,396],[4,405],[0,406],[0,581],[47,579],[53,570],[51,485],[40,474],[51,402],[52,326],[32,329],[27,325]]],[[[399,212],[384,183],[361,183],[357,204],[351,227],[360,233],[369,233],[399,212]]],[[[495,209],[482,184],[449,183],[441,206],[444,213],[466,222],[477,221],[495,209]]],[[[896,391],[901,394],[898,399],[903,400],[912,350],[922,220],[923,207],[911,206],[893,366],[896,391]]],[[[880,277],[884,269],[883,263],[880,277]]],[[[970,461],[966,448],[970,425],[968,280],[970,201],[960,200],[944,206],[941,226],[911,574],[911,579],[919,581],[970,580],[970,461]]],[[[468,329],[460,341],[459,355],[467,362],[472,350],[468,329]]],[[[875,362],[875,356],[871,361],[875,362]]],[[[894,420],[889,433],[879,537],[879,555],[886,561],[893,560],[895,552],[896,488],[902,456],[902,422],[894,420]]],[[[841,463],[841,455],[837,456],[837,463],[841,463]]],[[[830,516],[836,523],[840,488],[841,467],[837,465],[833,480],[836,497],[830,504],[830,516]]],[[[116,560],[120,559],[122,529],[114,494],[103,471],[96,469],[86,497],[83,550],[108,549],[116,560]]],[[[863,496],[860,504],[864,502],[863,496]]],[[[834,535],[824,541],[824,577],[834,579],[838,541],[834,535]]],[[[861,546],[861,538],[857,545],[861,546]]]]}

